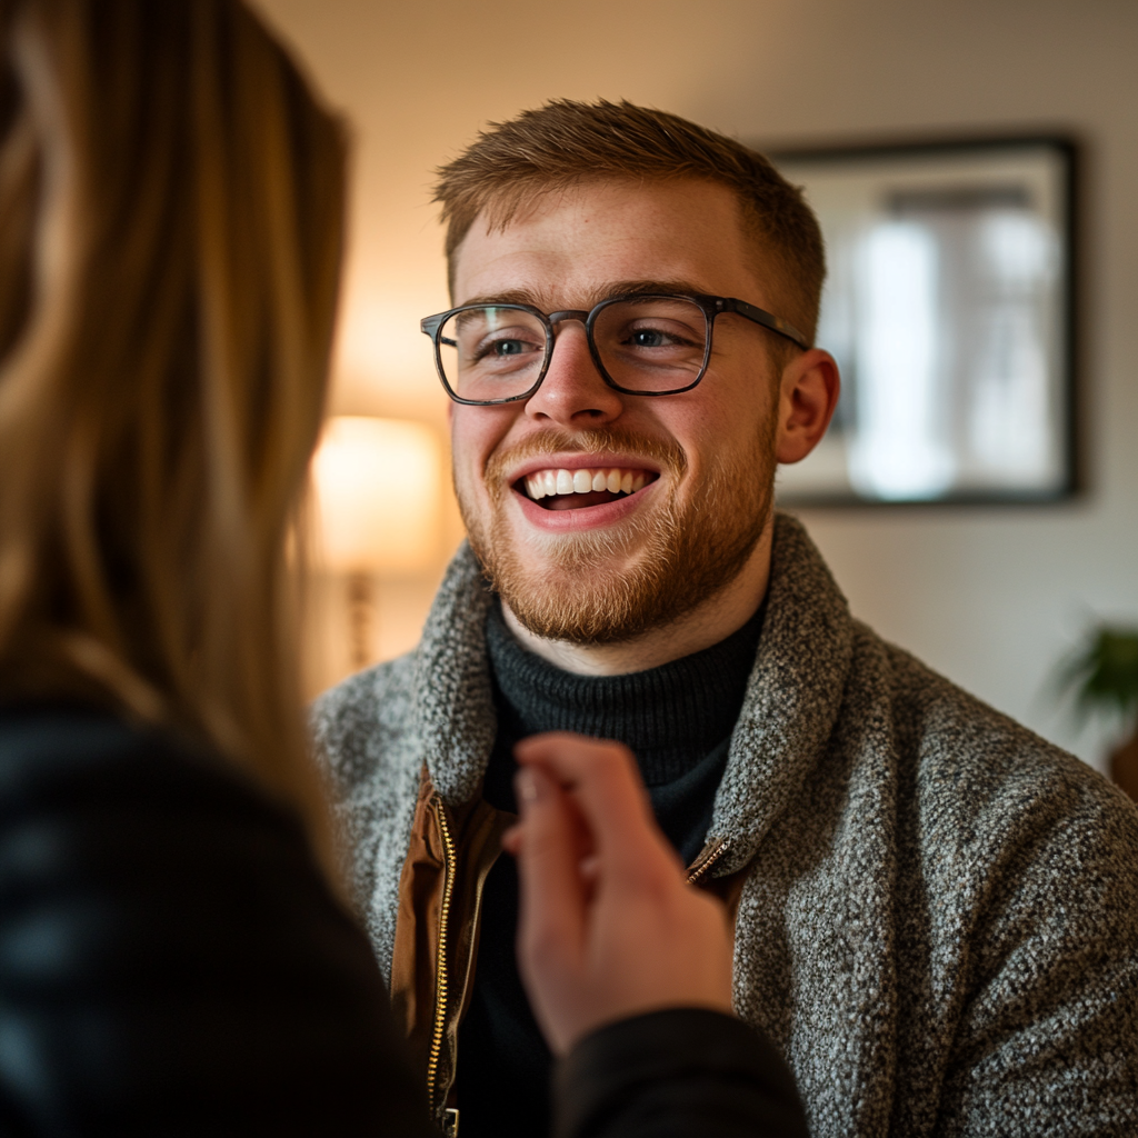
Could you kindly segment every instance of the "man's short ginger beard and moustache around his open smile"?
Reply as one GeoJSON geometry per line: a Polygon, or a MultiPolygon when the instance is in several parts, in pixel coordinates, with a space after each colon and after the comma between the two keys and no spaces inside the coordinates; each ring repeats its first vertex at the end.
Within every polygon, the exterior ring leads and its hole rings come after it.
{"type": "Polygon", "coordinates": [[[525,628],[545,640],[615,644],[678,620],[729,585],[769,520],[773,423],[748,454],[712,459],[700,485],[681,502],[678,484],[686,465],[674,443],[615,428],[558,430],[490,455],[484,476],[493,508],[488,520],[479,517],[457,480],[456,492],[470,545],[525,628]],[[616,526],[539,535],[545,556],[536,561],[529,553],[527,559],[506,521],[506,470],[543,454],[604,451],[649,460],[661,475],[673,476],[667,500],[616,526]]]}

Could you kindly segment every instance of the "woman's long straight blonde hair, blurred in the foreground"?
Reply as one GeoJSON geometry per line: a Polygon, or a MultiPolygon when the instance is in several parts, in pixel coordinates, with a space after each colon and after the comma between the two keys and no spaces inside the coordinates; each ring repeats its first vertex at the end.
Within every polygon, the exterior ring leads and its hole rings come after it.
{"type": "Polygon", "coordinates": [[[238,0],[0,0],[0,698],[174,728],[310,822],[284,544],[344,171],[238,0]]]}

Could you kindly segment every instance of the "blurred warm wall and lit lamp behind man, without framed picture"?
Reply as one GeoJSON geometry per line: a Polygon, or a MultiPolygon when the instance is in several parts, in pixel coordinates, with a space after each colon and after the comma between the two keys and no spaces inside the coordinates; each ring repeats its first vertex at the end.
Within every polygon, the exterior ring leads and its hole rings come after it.
{"type": "Polygon", "coordinates": [[[1138,3],[257,3],[355,135],[311,693],[414,644],[462,536],[418,324],[448,299],[431,170],[487,121],[604,97],[770,149],[1062,133],[1082,148],[1081,493],[799,512],[857,616],[1103,766],[1119,724],[1078,727],[1056,676],[1092,626],[1138,622],[1138,3]]]}

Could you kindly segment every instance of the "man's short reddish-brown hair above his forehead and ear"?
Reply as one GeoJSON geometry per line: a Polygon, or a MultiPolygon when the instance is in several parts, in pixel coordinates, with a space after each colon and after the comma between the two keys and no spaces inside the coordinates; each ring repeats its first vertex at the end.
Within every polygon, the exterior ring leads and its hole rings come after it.
{"type": "Polygon", "coordinates": [[[813,341],[826,263],[818,220],[802,191],[757,150],[627,101],[555,99],[508,123],[490,123],[438,171],[435,200],[447,226],[452,295],[455,250],[480,213],[492,229],[505,229],[535,196],[596,178],[692,178],[733,190],[761,275],[774,273],[776,313],[813,341]]]}

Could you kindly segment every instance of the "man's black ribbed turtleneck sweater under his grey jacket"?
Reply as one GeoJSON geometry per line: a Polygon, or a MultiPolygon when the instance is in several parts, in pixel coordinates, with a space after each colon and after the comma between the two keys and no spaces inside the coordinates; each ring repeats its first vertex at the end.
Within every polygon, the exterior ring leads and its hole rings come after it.
{"type": "MultiPolygon", "coordinates": [[[[486,643],[498,727],[484,797],[517,810],[513,745],[544,731],[625,743],[660,828],[685,864],[703,848],[731,733],[754,665],[762,609],[712,648],[648,671],[577,676],[518,643],[490,609],[486,643]]],[[[518,975],[518,875],[500,857],[483,894],[475,987],[459,1033],[462,1138],[542,1138],[550,1129],[552,1056],[518,975]]]]}

